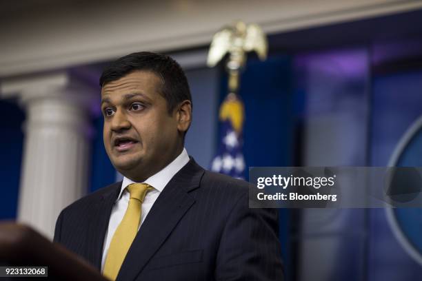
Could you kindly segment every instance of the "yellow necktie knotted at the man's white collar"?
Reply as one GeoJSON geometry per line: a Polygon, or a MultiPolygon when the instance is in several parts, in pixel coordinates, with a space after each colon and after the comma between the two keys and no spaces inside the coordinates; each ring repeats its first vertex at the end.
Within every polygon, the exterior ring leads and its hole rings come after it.
{"type": "Polygon", "coordinates": [[[128,253],[130,245],[137,236],[141,222],[141,205],[143,198],[149,190],[154,189],[146,183],[132,183],[126,187],[130,193],[128,209],[121,220],[119,227],[114,232],[110,247],[108,248],[103,275],[110,280],[116,280],[121,264],[128,253]]]}

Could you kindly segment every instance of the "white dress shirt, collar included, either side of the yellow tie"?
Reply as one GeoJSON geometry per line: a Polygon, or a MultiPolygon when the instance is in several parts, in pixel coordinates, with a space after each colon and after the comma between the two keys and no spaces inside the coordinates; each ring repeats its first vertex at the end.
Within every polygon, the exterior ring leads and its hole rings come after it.
{"type": "MultiPolygon", "coordinates": [[[[173,178],[177,172],[183,168],[189,162],[189,155],[186,152],[186,149],[183,148],[183,151],[176,159],[172,161],[169,165],[165,166],[161,171],[157,174],[150,176],[150,178],[146,179],[143,183],[147,183],[154,187],[153,190],[147,192],[143,203],[142,203],[142,214],[141,214],[141,223],[139,224],[139,228],[142,225],[142,222],[145,220],[146,216],[148,216],[148,212],[154,205],[155,200],[157,200],[158,196],[163,191],[165,185],[173,178]]],[[[134,183],[134,181],[130,180],[129,178],[124,177],[123,182],[121,183],[121,189],[119,197],[117,197],[116,202],[114,202],[112,213],[110,216],[110,221],[108,222],[108,231],[106,232],[106,238],[104,240],[104,247],[103,247],[103,258],[101,259],[101,272],[104,269],[104,263],[106,262],[106,257],[108,253],[108,248],[110,247],[110,242],[114,235],[114,231],[116,231],[117,227],[119,226],[121,220],[123,220],[123,216],[125,215],[126,209],[128,209],[130,194],[126,187],[134,183]]],[[[139,230],[138,228],[138,230],[139,230]]]]}

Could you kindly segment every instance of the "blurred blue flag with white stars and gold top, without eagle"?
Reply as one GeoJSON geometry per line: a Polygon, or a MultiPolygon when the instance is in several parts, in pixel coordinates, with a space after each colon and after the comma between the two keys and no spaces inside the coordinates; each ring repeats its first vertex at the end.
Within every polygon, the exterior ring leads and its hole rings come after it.
{"type": "Polygon", "coordinates": [[[221,139],[217,155],[211,163],[211,170],[234,178],[245,177],[243,158],[243,103],[234,94],[221,104],[219,121],[221,139]]]}

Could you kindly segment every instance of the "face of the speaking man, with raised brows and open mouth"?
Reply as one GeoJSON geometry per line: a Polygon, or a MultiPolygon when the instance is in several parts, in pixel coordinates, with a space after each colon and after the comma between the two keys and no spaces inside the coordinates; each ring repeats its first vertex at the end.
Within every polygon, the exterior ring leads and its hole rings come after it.
{"type": "Polygon", "coordinates": [[[183,125],[179,107],[169,114],[161,85],[156,74],[136,71],[101,89],[106,152],[114,167],[135,181],[145,180],[176,158],[189,127],[183,125]]]}

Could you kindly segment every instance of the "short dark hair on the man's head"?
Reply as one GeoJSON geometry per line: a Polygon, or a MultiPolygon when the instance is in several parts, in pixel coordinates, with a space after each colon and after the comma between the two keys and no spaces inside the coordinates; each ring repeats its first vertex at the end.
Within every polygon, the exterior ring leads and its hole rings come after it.
{"type": "Polygon", "coordinates": [[[182,101],[189,100],[192,103],[185,73],[177,61],[165,54],[136,52],[122,56],[103,71],[99,80],[100,86],[103,87],[137,70],[153,72],[163,81],[159,92],[167,101],[169,114],[182,101]]]}

